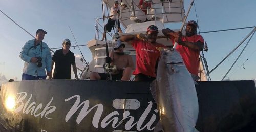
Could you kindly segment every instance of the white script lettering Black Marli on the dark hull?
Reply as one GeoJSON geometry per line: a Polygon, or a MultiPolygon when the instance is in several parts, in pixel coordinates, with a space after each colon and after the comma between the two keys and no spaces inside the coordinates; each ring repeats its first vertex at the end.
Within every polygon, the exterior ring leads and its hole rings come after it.
{"type": "MultiPolygon", "coordinates": [[[[16,100],[16,109],[14,112],[23,112],[24,114],[31,114],[35,117],[40,116],[41,118],[47,118],[47,119],[52,119],[48,115],[50,113],[53,113],[56,109],[56,106],[51,106],[51,102],[53,101],[53,97],[51,100],[48,102],[48,104],[42,109],[42,104],[40,103],[39,105],[36,106],[36,102],[31,102],[32,99],[32,94],[28,98],[28,100],[25,102],[25,98],[27,97],[26,92],[20,92],[17,93],[18,98],[16,100]],[[23,102],[24,101],[24,102],[23,102]]],[[[157,109],[154,110],[154,113],[152,115],[149,115],[153,106],[153,102],[148,102],[148,106],[146,107],[145,111],[142,113],[140,116],[139,120],[135,122],[135,117],[130,116],[130,111],[124,111],[122,114],[122,119],[119,121],[119,113],[118,111],[113,111],[110,114],[106,115],[101,121],[100,118],[103,113],[103,105],[102,104],[96,104],[89,108],[90,101],[85,100],[80,103],[81,98],[79,95],[74,95],[69,97],[68,99],[65,99],[64,101],[70,101],[71,99],[76,99],[75,103],[73,106],[70,108],[69,112],[67,113],[65,117],[65,121],[68,122],[69,119],[78,111],[78,109],[81,109],[79,112],[78,116],[76,117],[76,123],[80,124],[81,121],[87,116],[89,112],[91,112],[93,109],[95,111],[92,119],[92,125],[95,128],[99,128],[99,124],[101,128],[106,128],[108,125],[112,125],[112,128],[117,128],[119,125],[123,124],[125,130],[130,130],[134,126],[136,126],[136,129],[138,131],[147,129],[147,130],[153,130],[155,127],[152,126],[153,123],[156,121],[156,114],[158,114],[157,109]],[[82,107],[82,108],[80,108],[82,107]],[[150,121],[148,121],[144,126],[142,124],[145,122],[146,118],[148,116],[150,117],[150,121]],[[124,122],[125,120],[125,122],[124,122]],[[111,124],[112,123],[112,124],[111,124]]]]}

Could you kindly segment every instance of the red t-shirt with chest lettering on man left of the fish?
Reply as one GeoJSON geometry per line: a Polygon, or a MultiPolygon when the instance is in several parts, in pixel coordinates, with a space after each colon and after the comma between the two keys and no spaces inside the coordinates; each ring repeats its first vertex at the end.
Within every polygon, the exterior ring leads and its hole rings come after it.
{"type": "Polygon", "coordinates": [[[136,50],[136,69],[133,74],[137,75],[142,73],[156,77],[156,62],[160,56],[160,52],[157,48],[166,48],[166,46],[159,43],[153,45],[150,42],[140,39],[134,39],[132,46],[136,50]]]}

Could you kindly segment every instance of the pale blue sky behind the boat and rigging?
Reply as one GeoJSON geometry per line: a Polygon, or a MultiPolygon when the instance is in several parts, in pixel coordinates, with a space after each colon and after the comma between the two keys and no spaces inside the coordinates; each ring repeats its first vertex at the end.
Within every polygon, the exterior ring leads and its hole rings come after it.
{"type": "MultiPolygon", "coordinates": [[[[190,1],[184,0],[186,11],[189,4],[190,1]]],[[[193,6],[187,20],[198,19],[200,32],[256,26],[255,5],[256,1],[253,0],[195,0],[196,11],[193,6]]],[[[102,17],[101,1],[99,0],[0,0],[0,10],[32,35],[35,35],[39,28],[46,30],[44,42],[50,48],[61,47],[65,38],[69,38],[72,45],[75,45],[75,39],[78,45],[87,44],[88,41],[95,38],[95,20],[102,17]]],[[[180,27],[167,26],[167,28],[179,29],[180,27]]],[[[253,28],[201,34],[209,48],[208,52],[204,52],[209,70],[212,70],[237,47],[252,30],[253,28]]],[[[0,84],[9,79],[22,80],[24,61],[19,58],[19,52],[25,42],[30,39],[33,39],[32,36],[0,12],[0,84]]],[[[224,77],[247,41],[248,39],[210,73],[212,80],[218,81],[224,77]]],[[[90,62],[92,55],[88,47],[82,46],[80,49],[86,61],[90,62]]],[[[76,55],[77,67],[83,69],[84,64],[79,60],[81,53],[78,47],[70,48],[70,50],[76,55]]],[[[253,36],[225,79],[255,79],[255,51],[256,37],[253,36]]]]}

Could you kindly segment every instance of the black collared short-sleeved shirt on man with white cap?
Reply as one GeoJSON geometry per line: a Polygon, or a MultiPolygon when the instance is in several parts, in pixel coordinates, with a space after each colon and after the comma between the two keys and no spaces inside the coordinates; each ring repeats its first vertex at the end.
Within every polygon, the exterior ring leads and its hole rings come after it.
{"type": "Polygon", "coordinates": [[[62,50],[56,50],[52,56],[52,60],[55,61],[53,79],[70,79],[71,65],[76,64],[74,53],[69,51],[64,55],[62,50]]]}

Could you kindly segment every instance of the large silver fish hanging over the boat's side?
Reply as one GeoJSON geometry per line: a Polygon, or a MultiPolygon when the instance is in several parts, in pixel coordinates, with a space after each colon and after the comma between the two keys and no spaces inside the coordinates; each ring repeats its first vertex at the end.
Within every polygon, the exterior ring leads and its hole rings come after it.
{"type": "Polygon", "coordinates": [[[157,78],[150,88],[158,105],[162,129],[165,132],[197,131],[198,98],[194,81],[177,50],[160,52],[157,78]]]}

